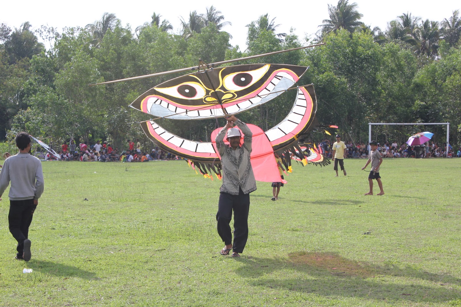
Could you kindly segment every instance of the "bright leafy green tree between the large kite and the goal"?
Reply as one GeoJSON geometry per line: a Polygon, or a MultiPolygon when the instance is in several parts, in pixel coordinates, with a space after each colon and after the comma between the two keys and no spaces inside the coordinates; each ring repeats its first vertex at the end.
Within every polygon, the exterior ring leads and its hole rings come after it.
{"type": "Polygon", "coordinates": [[[307,81],[315,85],[319,122],[337,124],[352,139],[365,138],[370,112],[382,95],[378,73],[383,55],[371,35],[340,29],[325,46],[307,50],[307,81]]]}

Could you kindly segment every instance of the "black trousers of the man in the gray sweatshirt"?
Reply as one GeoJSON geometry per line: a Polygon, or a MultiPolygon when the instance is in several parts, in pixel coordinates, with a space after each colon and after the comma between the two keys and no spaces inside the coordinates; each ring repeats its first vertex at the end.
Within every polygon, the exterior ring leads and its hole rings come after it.
{"type": "Polygon", "coordinates": [[[8,224],[11,234],[18,241],[16,250],[19,258],[23,257],[24,240],[29,235],[29,226],[36,208],[34,199],[10,200],[8,224]]]}

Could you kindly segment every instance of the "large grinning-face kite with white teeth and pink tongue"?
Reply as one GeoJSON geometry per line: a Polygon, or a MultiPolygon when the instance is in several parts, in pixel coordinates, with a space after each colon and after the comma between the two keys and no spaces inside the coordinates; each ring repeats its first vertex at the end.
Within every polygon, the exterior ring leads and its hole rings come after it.
{"type": "MultiPolygon", "coordinates": [[[[260,106],[289,90],[307,67],[245,64],[213,68],[212,64],[201,62],[197,69],[194,73],[151,88],[136,98],[130,106],[159,118],[176,120],[227,117],[260,106]]],[[[175,72],[177,71],[184,70],[175,72]]],[[[118,81],[130,79],[133,78],[118,81]]],[[[110,82],[114,81],[104,83],[110,82]]],[[[283,121],[267,131],[248,124],[253,133],[251,161],[258,181],[281,181],[274,152],[290,159],[295,155],[301,161],[314,165],[330,164],[330,160],[320,155],[315,148],[301,150],[299,147],[301,141],[319,126],[315,118],[317,102],[312,84],[293,89],[297,92],[296,99],[283,121]]],[[[206,177],[211,177],[214,173],[221,178],[220,157],[214,141],[221,128],[213,131],[211,142],[199,142],[172,134],[154,120],[141,122],[141,127],[160,149],[187,159],[189,164],[198,168],[206,177]]],[[[290,159],[283,159],[287,168],[290,159]]]]}

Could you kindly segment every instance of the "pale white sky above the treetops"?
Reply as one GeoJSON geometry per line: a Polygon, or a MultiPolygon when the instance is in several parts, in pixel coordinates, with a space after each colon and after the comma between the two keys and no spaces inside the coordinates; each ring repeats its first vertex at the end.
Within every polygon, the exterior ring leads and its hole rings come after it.
{"type": "MultiPolygon", "coordinates": [[[[442,21],[443,18],[452,16],[452,12],[461,9],[459,0],[349,0],[349,3],[357,3],[358,11],[363,14],[362,22],[372,27],[378,26],[386,29],[387,23],[402,13],[410,12],[412,16],[423,19],[442,21]]],[[[4,1],[0,6],[0,23],[6,23],[12,29],[19,28],[21,23],[29,21],[33,29],[42,24],[47,24],[58,29],[64,27],[84,27],[88,23],[99,20],[104,12],[114,13],[125,26],[130,24],[132,31],[144,22],[151,20],[153,12],[162,15],[173,25],[173,32],[180,29],[180,17],[187,20],[189,12],[196,10],[205,13],[206,7],[214,5],[225,21],[230,21],[231,26],[223,30],[229,32],[233,39],[233,46],[239,45],[245,50],[247,35],[246,25],[260,15],[269,13],[269,17],[277,17],[277,33],[289,33],[290,27],[296,29],[301,41],[306,35],[313,35],[322,24],[323,19],[328,19],[327,5],[337,5],[337,0],[291,0],[291,1],[204,1],[204,0],[136,0],[136,1],[30,1],[20,2],[4,1]]],[[[46,46],[47,48],[49,46],[46,46]]]]}

